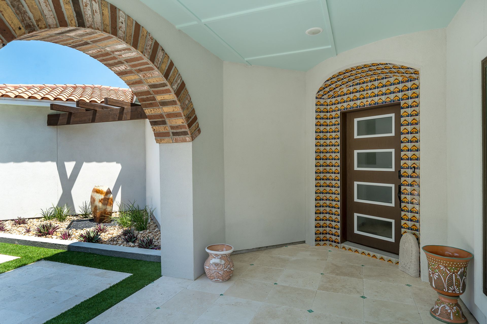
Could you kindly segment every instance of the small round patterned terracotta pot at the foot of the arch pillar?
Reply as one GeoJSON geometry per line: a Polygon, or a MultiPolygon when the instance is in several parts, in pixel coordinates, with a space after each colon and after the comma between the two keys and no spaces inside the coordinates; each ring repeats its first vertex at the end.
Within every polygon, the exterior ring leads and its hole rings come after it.
{"type": "Polygon", "coordinates": [[[233,246],[213,244],[206,247],[209,256],[205,261],[205,273],[208,279],[215,282],[227,281],[233,274],[233,261],[230,253],[233,246]]]}

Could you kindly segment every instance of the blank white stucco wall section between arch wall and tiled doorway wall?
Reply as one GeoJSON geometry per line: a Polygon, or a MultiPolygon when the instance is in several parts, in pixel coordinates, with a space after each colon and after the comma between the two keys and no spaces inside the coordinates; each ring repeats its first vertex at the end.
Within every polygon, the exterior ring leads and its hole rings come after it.
{"type": "Polygon", "coordinates": [[[224,63],[226,242],[304,240],[304,73],[224,63]]]}

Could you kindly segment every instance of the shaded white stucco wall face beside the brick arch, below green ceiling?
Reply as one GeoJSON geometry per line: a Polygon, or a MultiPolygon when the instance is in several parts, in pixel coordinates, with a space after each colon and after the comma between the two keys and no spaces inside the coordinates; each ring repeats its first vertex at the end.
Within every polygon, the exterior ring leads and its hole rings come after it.
{"type": "MultiPolygon", "coordinates": [[[[192,186],[186,194],[192,195],[194,223],[187,224],[187,229],[193,231],[194,225],[193,267],[194,273],[201,274],[207,257],[205,247],[225,241],[223,61],[176,30],[171,23],[140,1],[110,2],[141,23],[167,51],[181,73],[194,104],[201,135],[192,142],[191,147],[192,186]]],[[[160,158],[161,165],[167,163],[162,161],[162,154],[160,158]]],[[[163,173],[171,170],[161,168],[160,172],[161,179],[164,179],[163,173]]],[[[161,188],[165,185],[161,183],[161,188]]],[[[161,190],[161,205],[170,204],[168,199],[161,190]]],[[[161,227],[164,226],[165,217],[171,215],[161,215],[161,227]]],[[[187,239],[184,233],[180,233],[180,239],[187,239]]]]}

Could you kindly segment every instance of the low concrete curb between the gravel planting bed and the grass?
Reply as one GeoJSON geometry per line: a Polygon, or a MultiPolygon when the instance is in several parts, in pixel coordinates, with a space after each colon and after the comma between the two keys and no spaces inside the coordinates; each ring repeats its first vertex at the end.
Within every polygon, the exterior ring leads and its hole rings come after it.
{"type": "Polygon", "coordinates": [[[1,243],[37,246],[48,249],[88,252],[102,256],[118,256],[129,259],[161,262],[160,250],[132,248],[99,243],[78,242],[67,239],[48,239],[18,234],[0,234],[1,243]]]}

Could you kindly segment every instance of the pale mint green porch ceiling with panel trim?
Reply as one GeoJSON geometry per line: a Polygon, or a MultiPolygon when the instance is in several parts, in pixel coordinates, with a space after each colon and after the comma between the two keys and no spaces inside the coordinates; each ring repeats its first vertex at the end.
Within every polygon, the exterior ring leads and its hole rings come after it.
{"type": "Polygon", "coordinates": [[[464,0],[141,0],[224,61],[307,71],[380,39],[446,27],[464,0]],[[319,27],[323,33],[305,31],[319,27]]]}

